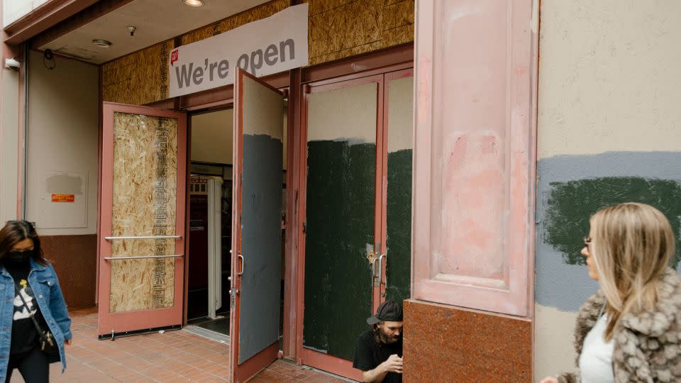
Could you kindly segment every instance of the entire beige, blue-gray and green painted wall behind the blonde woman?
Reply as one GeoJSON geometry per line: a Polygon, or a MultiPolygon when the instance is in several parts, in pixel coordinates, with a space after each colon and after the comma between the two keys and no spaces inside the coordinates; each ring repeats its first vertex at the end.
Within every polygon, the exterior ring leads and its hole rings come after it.
{"type": "Polygon", "coordinates": [[[589,216],[640,201],[679,234],[680,34],[677,1],[542,1],[536,381],[575,368],[577,310],[598,288],[579,254],[589,216]]]}

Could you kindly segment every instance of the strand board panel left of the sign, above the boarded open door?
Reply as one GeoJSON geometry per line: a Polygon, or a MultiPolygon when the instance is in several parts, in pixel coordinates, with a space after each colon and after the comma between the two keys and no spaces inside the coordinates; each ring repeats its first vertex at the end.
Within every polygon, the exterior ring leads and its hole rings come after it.
{"type": "Polygon", "coordinates": [[[166,99],[166,62],[172,48],[173,41],[167,40],[102,65],[104,101],[143,105],[166,99]]]}

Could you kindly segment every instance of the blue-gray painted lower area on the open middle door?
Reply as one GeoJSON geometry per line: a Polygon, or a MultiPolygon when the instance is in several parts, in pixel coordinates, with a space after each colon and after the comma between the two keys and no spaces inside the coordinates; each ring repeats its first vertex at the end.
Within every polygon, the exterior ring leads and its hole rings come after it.
{"type": "Polygon", "coordinates": [[[243,135],[239,364],[279,339],[282,150],[269,135],[243,135]]]}

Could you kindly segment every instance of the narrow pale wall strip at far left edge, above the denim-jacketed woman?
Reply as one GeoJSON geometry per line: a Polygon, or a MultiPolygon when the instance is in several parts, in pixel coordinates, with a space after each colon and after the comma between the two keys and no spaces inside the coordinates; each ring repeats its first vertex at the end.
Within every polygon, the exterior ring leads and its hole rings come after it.
{"type": "Polygon", "coordinates": [[[19,73],[2,69],[0,110],[0,226],[16,219],[19,133],[19,73]]]}

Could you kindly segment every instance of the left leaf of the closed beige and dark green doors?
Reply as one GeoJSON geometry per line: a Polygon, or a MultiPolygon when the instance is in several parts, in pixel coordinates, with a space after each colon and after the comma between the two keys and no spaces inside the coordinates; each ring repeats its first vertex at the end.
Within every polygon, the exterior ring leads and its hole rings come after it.
{"type": "Polygon", "coordinates": [[[380,301],[382,75],[306,94],[301,360],[345,377],[380,301]]]}

